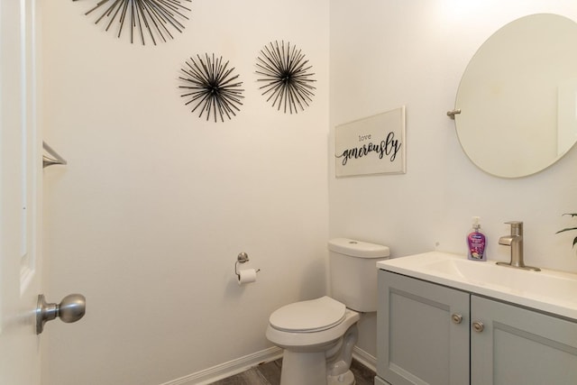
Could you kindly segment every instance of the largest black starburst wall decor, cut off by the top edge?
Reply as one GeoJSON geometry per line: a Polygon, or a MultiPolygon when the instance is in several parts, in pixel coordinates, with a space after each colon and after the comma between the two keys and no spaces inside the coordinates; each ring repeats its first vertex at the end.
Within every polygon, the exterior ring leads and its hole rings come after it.
{"type": "MultiPolygon", "coordinates": [[[[78,1],[78,0],[72,0],[78,1]]],[[[113,31],[120,38],[129,30],[130,41],[158,41],[174,39],[174,31],[182,32],[190,11],[187,3],[192,0],[92,0],[96,5],[86,15],[96,14],[97,23],[105,31],[113,31]],[[172,32],[171,32],[172,31],[172,32]]]]}

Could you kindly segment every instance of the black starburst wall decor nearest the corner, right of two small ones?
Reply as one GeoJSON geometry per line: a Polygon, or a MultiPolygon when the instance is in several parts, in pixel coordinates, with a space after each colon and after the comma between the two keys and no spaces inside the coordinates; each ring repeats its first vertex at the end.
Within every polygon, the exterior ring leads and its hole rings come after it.
{"type": "Polygon", "coordinates": [[[278,110],[283,108],[284,113],[298,114],[298,107],[305,110],[316,88],[312,83],[316,80],[311,78],[314,73],[309,72],[312,66],[305,60],[305,54],[290,42],[285,45],[284,41],[270,42],[261,50],[257,58],[257,74],[261,75],[258,81],[266,84],[261,89],[263,96],[269,96],[267,102],[272,100],[272,106],[278,110]]]}

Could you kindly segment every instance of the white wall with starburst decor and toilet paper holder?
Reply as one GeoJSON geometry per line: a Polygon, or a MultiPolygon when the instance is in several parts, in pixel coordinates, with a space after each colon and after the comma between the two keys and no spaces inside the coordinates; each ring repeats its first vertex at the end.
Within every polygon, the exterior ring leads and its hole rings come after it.
{"type": "Polygon", "coordinates": [[[325,293],[328,1],[193,1],[156,47],[103,32],[94,4],[42,7],[44,139],[69,161],[44,171],[47,295],[87,297],[80,322],[47,325],[45,380],[155,385],[270,347],[270,312],[325,293]],[[316,74],[298,115],[258,91],[274,40],[316,74]],[[233,120],[198,119],[179,96],[179,69],[205,52],[241,76],[233,120]],[[239,252],[261,269],[246,287],[239,252]]]}

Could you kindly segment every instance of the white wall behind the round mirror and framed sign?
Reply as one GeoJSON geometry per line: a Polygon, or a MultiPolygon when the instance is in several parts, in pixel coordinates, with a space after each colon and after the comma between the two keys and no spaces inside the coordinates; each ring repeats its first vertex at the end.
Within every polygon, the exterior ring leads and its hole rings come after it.
{"type": "MultiPolygon", "coordinates": [[[[472,215],[481,215],[489,257],[508,260],[497,238],[508,220],[525,222],[527,264],[577,271],[574,222],[577,150],[524,179],[479,170],[462,151],[453,109],[463,71],[493,32],[518,17],[555,13],[577,20],[577,4],[551,0],[331,1],[329,201],[331,236],[389,245],[394,257],[466,252],[472,215]],[[334,126],[407,106],[407,173],[334,178],[334,126]]],[[[359,346],[375,353],[375,317],[359,346]]]]}

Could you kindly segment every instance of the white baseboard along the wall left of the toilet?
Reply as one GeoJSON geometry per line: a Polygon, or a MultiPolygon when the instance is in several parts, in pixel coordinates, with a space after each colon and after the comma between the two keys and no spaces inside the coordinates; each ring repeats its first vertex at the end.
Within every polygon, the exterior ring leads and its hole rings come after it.
{"type": "Polygon", "coordinates": [[[233,361],[224,362],[204,371],[188,374],[177,380],[170,380],[161,385],[206,385],[217,380],[225,379],[257,366],[259,363],[270,362],[282,357],[282,349],[273,346],[261,352],[245,355],[233,361]]]}

